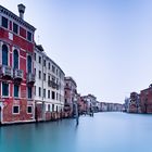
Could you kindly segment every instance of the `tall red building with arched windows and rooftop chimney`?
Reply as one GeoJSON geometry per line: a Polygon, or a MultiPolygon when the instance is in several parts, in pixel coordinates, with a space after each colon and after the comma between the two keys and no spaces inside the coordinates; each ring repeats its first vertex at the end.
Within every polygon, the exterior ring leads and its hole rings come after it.
{"type": "Polygon", "coordinates": [[[35,121],[33,85],[35,27],[0,5],[0,123],[35,121]]]}

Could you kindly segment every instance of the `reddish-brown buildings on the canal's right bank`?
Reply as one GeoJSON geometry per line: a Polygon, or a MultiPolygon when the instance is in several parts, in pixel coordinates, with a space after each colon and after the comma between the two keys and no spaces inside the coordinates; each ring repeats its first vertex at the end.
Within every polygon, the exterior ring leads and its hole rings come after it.
{"type": "Polygon", "coordinates": [[[124,111],[128,113],[152,113],[152,85],[140,93],[131,92],[125,99],[124,111]]]}

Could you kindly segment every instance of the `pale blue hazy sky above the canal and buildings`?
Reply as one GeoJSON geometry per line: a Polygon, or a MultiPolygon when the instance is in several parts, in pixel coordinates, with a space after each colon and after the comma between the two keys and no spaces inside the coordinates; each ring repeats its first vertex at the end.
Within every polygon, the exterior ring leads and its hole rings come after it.
{"type": "Polygon", "coordinates": [[[18,3],[81,96],[123,103],[152,83],[151,0],[0,0],[17,15],[18,3]]]}

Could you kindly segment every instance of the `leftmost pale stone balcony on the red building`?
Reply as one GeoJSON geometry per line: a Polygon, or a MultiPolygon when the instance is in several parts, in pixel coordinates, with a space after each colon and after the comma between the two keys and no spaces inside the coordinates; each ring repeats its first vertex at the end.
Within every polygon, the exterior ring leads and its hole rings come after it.
{"type": "Polygon", "coordinates": [[[0,66],[0,76],[1,77],[13,77],[13,69],[8,65],[0,66]]]}

